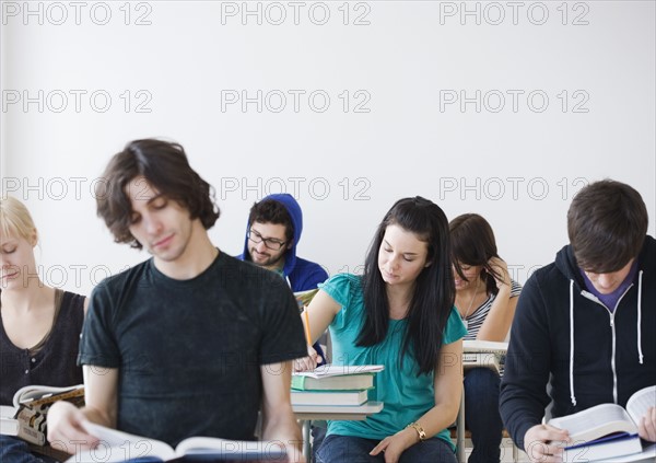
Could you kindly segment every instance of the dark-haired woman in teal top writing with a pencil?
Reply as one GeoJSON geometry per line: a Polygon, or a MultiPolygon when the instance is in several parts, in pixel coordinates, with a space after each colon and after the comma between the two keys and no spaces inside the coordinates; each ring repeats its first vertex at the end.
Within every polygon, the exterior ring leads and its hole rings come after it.
{"type": "MultiPolygon", "coordinates": [[[[385,364],[372,397],[385,406],[364,421],[330,421],[317,462],[455,462],[446,428],[460,404],[467,331],[454,309],[442,209],[400,199],[378,225],[364,275],[338,274],[320,288],[307,308],[312,340],[329,327],[333,363],[385,364]]],[[[308,350],[297,369],[314,367],[308,350]]]]}

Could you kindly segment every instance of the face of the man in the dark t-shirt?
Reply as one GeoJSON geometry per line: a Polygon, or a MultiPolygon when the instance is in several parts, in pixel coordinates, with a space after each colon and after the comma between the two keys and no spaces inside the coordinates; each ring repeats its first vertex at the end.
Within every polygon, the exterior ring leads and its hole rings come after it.
{"type": "Polygon", "coordinates": [[[132,236],[157,259],[171,263],[183,257],[192,232],[189,212],[160,194],[143,176],[132,178],[126,193],[132,206],[132,236]]]}

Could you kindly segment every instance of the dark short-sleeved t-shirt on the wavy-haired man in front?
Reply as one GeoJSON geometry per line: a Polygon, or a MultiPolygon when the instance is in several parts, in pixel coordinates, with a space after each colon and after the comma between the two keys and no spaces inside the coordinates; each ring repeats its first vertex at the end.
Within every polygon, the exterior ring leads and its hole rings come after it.
{"type": "Polygon", "coordinates": [[[79,362],[119,370],[119,430],[176,445],[191,436],[254,439],[260,366],[306,355],[286,282],[220,253],[189,280],[150,259],[101,282],[79,362]]]}

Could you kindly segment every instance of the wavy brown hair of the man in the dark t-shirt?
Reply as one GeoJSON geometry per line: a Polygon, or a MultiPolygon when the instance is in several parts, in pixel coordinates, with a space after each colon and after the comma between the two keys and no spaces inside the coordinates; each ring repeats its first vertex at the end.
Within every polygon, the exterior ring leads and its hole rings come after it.
{"type": "Polygon", "coordinates": [[[156,139],[134,140],[112,158],[102,182],[96,184],[97,215],[117,243],[142,247],[130,233],[132,206],[126,192],[127,185],[139,176],[187,209],[191,220],[200,219],[206,230],[216,222],[220,211],[213,188],[191,169],[184,148],[156,139]]]}

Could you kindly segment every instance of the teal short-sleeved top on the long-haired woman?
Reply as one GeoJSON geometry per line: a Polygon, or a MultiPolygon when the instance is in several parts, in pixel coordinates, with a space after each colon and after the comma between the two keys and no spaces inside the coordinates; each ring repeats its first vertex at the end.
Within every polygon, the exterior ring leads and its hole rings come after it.
{"type": "MultiPolygon", "coordinates": [[[[364,294],[362,278],[356,275],[338,274],[319,285],[340,305],[341,310],[330,324],[332,362],[338,364],[384,364],[376,374],[376,387],[370,391],[371,401],[385,405],[380,413],[363,421],[329,421],[328,435],[353,436],[382,440],[395,435],[410,423],[417,421],[435,406],[433,373],[417,375],[419,364],[412,356],[403,357],[399,366],[406,320],[390,320],[385,340],[370,347],[356,346],[358,335],[364,320],[364,294]]],[[[450,344],[467,334],[467,329],[455,308],[448,317],[443,334],[443,344],[450,344]]],[[[435,437],[453,447],[448,430],[435,437]]],[[[455,449],[455,448],[454,448],[455,449]]]]}

